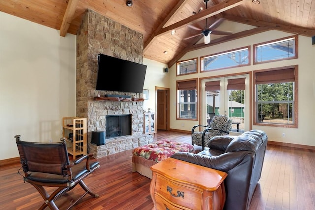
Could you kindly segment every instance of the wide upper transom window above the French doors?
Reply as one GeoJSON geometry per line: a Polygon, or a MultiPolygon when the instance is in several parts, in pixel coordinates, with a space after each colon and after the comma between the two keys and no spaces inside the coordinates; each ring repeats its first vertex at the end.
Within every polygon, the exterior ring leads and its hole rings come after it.
{"type": "Polygon", "coordinates": [[[250,46],[200,57],[201,71],[250,65],[250,46]]]}

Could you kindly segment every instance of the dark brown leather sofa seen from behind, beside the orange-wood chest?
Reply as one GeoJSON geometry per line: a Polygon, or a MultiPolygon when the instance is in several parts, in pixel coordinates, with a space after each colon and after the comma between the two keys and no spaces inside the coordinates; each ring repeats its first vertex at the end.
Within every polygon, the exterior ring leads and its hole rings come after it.
{"type": "Polygon", "coordinates": [[[268,137],[251,130],[240,136],[213,137],[198,154],[179,152],[171,157],[226,172],[224,210],[248,210],[260,180],[268,137]]]}

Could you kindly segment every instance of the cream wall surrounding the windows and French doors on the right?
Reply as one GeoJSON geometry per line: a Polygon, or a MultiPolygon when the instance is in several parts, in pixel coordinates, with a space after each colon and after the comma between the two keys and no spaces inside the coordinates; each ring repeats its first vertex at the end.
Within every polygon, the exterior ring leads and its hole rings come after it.
{"type": "MultiPolygon", "coordinates": [[[[214,54],[231,50],[244,46],[251,46],[251,65],[218,70],[213,72],[203,72],[198,74],[190,74],[185,76],[176,77],[176,65],[170,68],[170,88],[176,90],[176,80],[182,80],[187,78],[202,78],[216,75],[232,74],[237,72],[248,72],[259,69],[268,69],[281,66],[299,65],[299,87],[298,87],[298,128],[280,128],[269,126],[256,126],[252,125],[252,129],[261,129],[268,134],[268,139],[276,142],[301,144],[315,146],[315,45],[312,45],[311,38],[305,36],[299,36],[299,58],[292,60],[284,60],[277,62],[270,62],[265,64],[253,65],[252,63],[252,45],[260,42],[270,41],[278,38],[291,36],[294,34],[285,33],[281,31],[267,31],[264,33],[252,35],[249,37],[233,40],[230,42],[210,46],[200,50],[195,50],[185,54],[180,60],[186,60],[190,58],[200,57],[204,55],[214,54]],[[282,133],[286,136],[282,137],[282,133]]],[[[197,121],[189,120],[176,120],[176,91],[171,91],[171,109],[170,109],[170,125],[171,129],[187,130],[198,124],[197,121]],[[182,124],[184,123],[184,126],[182,124]]],[[[252,102],[254,105],[254,102],[252,102]]]]}

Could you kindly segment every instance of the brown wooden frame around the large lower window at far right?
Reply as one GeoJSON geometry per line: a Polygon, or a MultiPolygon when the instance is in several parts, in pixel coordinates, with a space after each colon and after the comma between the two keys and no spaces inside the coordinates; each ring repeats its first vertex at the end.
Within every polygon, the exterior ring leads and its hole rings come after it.
{"type": "Polygon", "coordinates": [[[298,128],[298,65],[293,66],[285,66],[280,68],[271,68],[271,69],[263,69],[263,70],[256,70],[253,71],[253,98],[254,98],[254,106],[253,106],[253,124],[254,125],[261,125],[261,126],[272,126],[272,127],[286,127],[286,128],[298,128]],[[293,123],[292,124],[277,124],[277,123],[268,123],[268,122],[261,122],[257,119],[257,87],[256,87],[256,73],[258,72],[266,72],[266,71],[275,71],[275,70],[284,70],[294,68],[295,77],[294,77],[294,114],[292,116],[293,123]]]}

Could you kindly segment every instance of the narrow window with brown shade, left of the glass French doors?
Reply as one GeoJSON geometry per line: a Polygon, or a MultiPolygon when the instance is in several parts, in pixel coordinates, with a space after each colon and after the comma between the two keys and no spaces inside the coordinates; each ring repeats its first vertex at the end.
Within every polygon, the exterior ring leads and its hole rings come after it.
{"type": "Polygon", "coordinates": [[[197,79],[177,82],[177,118],[197,120],[197,79]]]}

